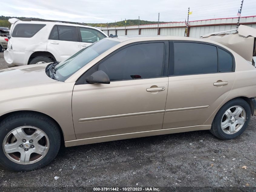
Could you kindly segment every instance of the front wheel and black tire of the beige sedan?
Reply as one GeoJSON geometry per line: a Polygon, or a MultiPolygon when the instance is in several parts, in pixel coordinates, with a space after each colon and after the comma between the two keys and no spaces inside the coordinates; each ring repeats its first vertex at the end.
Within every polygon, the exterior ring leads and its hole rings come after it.
{"type": "Polygon", "coordinates": [[[0,143],[2,166],[15,171],[28,171],[44,167],[56,157],[60,149],[61,136],[58,125],[47,116],[37,113],[16,113],[0,123],[0,143]],[[12,133],[15,134],[14,139],[12,133]]]}

